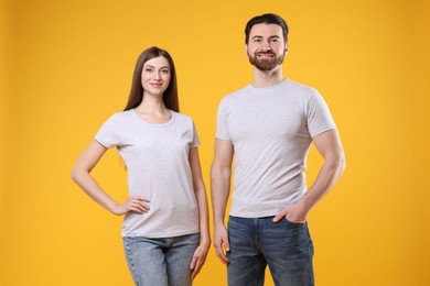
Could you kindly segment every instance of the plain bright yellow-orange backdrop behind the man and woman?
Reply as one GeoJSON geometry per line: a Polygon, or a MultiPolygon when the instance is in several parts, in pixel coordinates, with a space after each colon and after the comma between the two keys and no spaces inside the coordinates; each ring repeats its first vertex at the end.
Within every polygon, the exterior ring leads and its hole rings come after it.
{"type": "MultiPolygon", "coordinates": [[[[429,283],[429,1],[2,0],[0,8],[0,285],[132,285],[121,218],[72,183],[72,166],[126,105],[140,52],[158,45],[175,61],[208,188],[216,108],[251,80],[244,28],[265,12],[290,25],[284,75],[320,90],[346,152],[346,173],[310,216],[316,285],[429,283]]],[[[321,162],[312,150],[310,183],[321,162]]],[[[111,196],[127,197],[116,151],[94,174],[111,196]]],[[[225,282],[211,249],[194,285],[225,282]]]]}

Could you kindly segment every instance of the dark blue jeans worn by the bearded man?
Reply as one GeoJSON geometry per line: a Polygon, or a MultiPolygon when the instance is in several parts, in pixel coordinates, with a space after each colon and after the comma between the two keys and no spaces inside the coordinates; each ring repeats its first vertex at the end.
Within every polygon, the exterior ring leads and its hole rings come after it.
{"type": "Polygon", "coordinates": [[[229,217],[228,285],[262,286],[267,265],[277,286],[314,285],[307,223],[286,219],[273,223],[272,219],[229,217]]]}

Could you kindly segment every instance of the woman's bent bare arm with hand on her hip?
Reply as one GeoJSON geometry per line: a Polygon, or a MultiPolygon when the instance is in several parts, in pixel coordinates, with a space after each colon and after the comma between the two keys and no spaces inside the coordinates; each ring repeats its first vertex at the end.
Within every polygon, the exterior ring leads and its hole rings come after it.
{"type": "Polygon", "coordinates": [[[138,213],[148,212],[149,202],[144,197],[129,197],[123,204],[118,204],[101,187],[90,175],[93,168],[106,153],[107,148],[97,141],[93,141],[85,151],[80,154],[72,169],[72,179],[95,201],[110,212],[121,216],[129,211],[138,213]]]}

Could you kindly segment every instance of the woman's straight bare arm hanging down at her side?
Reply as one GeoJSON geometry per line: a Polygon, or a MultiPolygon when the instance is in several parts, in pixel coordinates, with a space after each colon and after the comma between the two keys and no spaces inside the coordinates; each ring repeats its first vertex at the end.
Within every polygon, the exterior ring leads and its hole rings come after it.
{"type": "Polygon", "coordinates": [[[201,240],[200,246],[196,249],[193,256],[193,261],[191,262],[190,265],[190,267],[192,268],[191,278],[194,279],[206,261],[207,251],[211,246],[211,234],[209,234],[206,188],[203,183],[202,168],[198,158],[198,150],[196,147],[190,150],[189,160],[191,166],[191,174],[193,177],[195,198],[197,200],[197,206],[198,206],[198,223],[200,223],[200,240],[201,240]]]}

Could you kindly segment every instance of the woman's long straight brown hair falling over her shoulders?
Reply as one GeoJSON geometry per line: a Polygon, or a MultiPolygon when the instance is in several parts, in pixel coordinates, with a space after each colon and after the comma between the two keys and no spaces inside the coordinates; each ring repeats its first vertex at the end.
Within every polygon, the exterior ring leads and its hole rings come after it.
{"type": "Polygon", "coordinates": [[[157,46],[152,46],[140,54],[135,67],[130,96],[128,98],[128,102],[123,111],[133,109],[142,102],[143,87],[142,87],[141,76],[142,76],[143,65],[149,59],[159,56],[165,57],[169,61],[170,73],[171,73],[169,86],[163,92],[164,106],[173,111],[179,112],[176,72],[174,68],[173,59],[165,50],[162,50],[157,46]]]}

